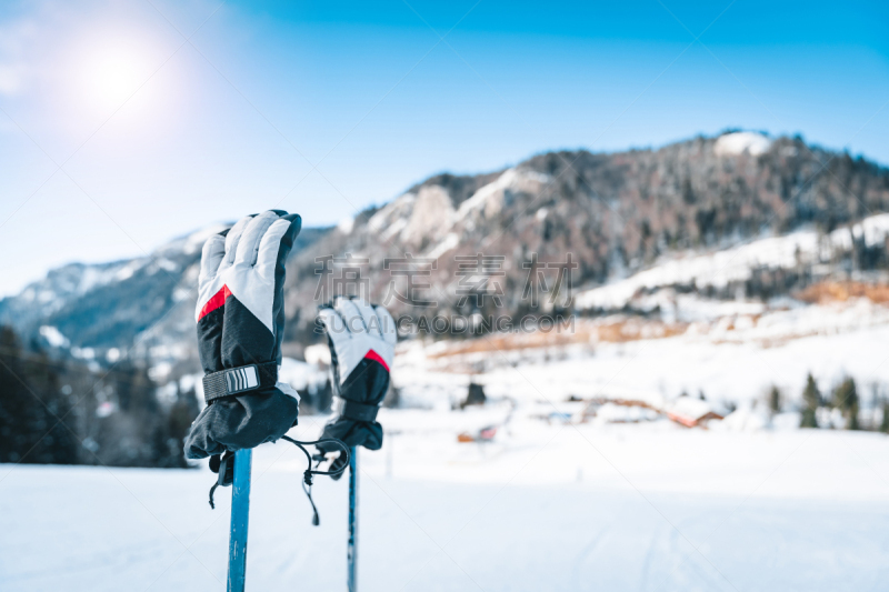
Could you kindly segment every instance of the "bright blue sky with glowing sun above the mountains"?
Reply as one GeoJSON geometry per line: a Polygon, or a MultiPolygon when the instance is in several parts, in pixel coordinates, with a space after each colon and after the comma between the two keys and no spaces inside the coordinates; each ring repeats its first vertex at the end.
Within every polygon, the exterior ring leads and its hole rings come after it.
{"type": "Polygon", "coordinates": [[[6,2],[0,295],[551,149],[737,127],[887,164],[887,101],[877,2],[6,2]]]}

